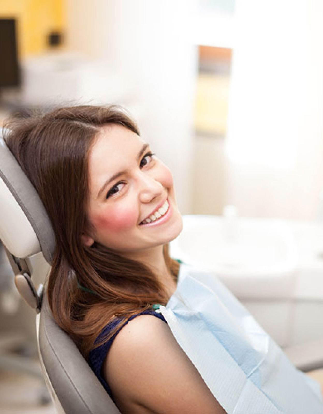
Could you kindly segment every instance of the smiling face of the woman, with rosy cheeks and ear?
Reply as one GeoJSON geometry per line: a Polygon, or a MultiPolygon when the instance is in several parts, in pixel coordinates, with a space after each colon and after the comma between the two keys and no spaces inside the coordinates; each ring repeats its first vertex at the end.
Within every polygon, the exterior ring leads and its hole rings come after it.
{"type": "Polygon", "coordinates": [[[182,230],[173,177],[149,145],[121,125],[102,128],[89,153],[89,205],[94,241],[118,253],[168,243],[182,230]]]}

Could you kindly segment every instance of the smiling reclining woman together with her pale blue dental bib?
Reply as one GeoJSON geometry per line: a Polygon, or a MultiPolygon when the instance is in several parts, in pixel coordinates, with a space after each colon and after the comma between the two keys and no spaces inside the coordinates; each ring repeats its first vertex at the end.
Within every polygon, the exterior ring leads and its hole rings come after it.
{"type": "Polygon", "coordinates": [[[56,236],[53,316],[122,413],[322,412],[318,383],[231,292],[170,258],[183,226],[173,178],[125,111],[60,108],[7,127],[56,236]]]}

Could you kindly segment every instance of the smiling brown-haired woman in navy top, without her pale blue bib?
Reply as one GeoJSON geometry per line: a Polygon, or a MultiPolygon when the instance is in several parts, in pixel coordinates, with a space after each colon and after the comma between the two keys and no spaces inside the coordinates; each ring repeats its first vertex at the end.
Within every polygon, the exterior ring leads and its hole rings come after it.
{"type": "Polygon", "coordinates": [[[115,106],[79,106],[7,128],[57,240],[48,280],[54,318],[120,411],[224,413],[153,310],[176,289],[168,243],[182,220],[171,172],[133,120],[115,106]]]}

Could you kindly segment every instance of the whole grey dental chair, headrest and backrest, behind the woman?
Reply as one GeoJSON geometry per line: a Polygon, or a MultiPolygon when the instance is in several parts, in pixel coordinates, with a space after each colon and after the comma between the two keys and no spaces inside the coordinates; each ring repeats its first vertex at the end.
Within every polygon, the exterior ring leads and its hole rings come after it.
{"type": "Polygon", "coordinates": [[[118,414],[116,405],[74,342],[55,323],[46,289],[36,289],[33,284],[35,269],[28,258],[41,252],[50,265],[55,236],[35,188],[5,144],[1,130],[0,240],[15,272],[20,294],[39,313],[39,357],[58,413],[118,414]]]}

